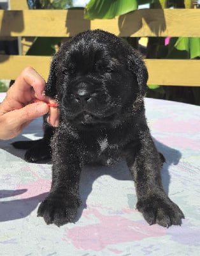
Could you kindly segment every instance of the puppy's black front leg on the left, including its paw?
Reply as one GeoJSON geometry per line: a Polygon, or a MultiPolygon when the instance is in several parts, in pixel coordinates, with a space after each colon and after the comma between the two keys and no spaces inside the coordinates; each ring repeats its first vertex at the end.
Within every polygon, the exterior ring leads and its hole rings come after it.
{"type": "Polygon", "coordinates": [[[52,140],[52,187],[38,209],[38,216],[43,216],[47,224],[54,223],[59,227],[75,221],[77,209],[81,204],[80,148],[76,140],[68,139],[64,134],[57,133],[52,140]]]}

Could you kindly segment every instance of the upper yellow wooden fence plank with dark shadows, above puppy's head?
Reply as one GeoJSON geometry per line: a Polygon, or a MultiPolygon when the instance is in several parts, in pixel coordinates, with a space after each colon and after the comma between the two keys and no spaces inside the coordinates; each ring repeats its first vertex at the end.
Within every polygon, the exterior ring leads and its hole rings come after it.
{"type": "Polygon", "coordinates": [[[101,28],[118,36],[200,37],[200,9],[157,9],[110,20],[85,20],[83,10],[0,10],[0,36],[74,36],[101,28]]]}

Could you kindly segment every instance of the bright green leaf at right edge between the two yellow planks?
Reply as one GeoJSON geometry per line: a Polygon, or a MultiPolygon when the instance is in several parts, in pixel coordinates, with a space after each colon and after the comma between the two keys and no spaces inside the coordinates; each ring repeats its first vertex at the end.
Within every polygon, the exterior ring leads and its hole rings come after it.
{"type": "Polygon", "coordinates": [[[189,52],[190,59],[200,57],[200,38],[179,37],[175,43],[175,48],[180,51],[189,52]]]}

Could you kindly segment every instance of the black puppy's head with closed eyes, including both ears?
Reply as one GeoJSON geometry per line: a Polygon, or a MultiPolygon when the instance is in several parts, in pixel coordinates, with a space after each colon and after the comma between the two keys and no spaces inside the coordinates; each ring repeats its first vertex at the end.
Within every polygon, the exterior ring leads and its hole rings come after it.
{"type": "Polygon", "coordinates": [[[148,74],[140,54],[117,36],[85,31],[55,54],[46,95],[57,97],[63,120],[113,122],[131,113],[146,92],[148,74]]]}

